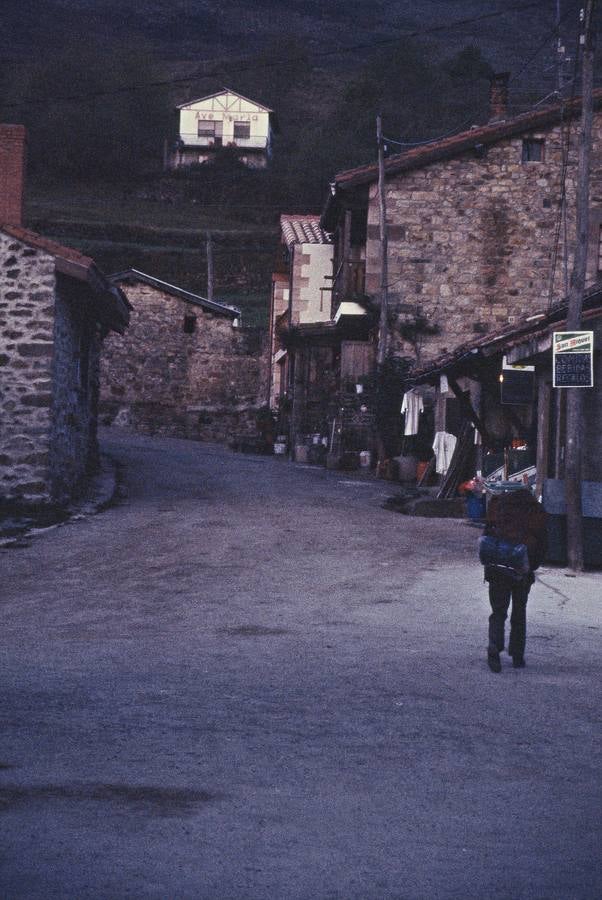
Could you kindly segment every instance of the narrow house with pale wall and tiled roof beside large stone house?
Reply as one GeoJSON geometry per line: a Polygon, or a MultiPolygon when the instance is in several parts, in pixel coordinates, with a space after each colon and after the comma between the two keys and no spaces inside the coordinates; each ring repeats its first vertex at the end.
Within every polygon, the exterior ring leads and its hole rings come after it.
{"type": "MultiPolygon", "coordinates": [[[[332,450],[329,436],[341,433],[348,395],[372,372],[374,321],[358,302],[333,304],[334,247],[320,217],[282,215],[280,227],[285,259],[272,276],[270,405],[301,459],[310,440],[320,437],[332,450]]],[[[368,449],[365,417],[355,419],[357,449],[368,449]]]]}

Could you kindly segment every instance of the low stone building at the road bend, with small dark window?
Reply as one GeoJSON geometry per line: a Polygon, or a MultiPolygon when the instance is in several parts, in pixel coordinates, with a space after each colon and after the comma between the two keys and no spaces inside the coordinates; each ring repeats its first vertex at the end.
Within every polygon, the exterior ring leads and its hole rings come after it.
{"type": "Polygon", "coordinates": [[[267,361],[258,329],[240,326],[240,310],[136,269],[112,281],[132,312],[127,334],[111,336],[103,354],[103,421],[207,441],[254,430],[267,361]]]}

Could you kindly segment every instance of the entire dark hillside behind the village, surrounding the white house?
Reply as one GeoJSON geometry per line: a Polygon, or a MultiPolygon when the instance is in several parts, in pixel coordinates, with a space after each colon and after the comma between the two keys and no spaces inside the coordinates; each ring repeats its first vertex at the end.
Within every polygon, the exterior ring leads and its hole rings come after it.
{"type": "MultiPolygon", "coordinates": [[[[571,46],[579,3],[561,6],[571,46]]],[[[217,288],[260,319],[279,212],[318,211],[334,172],[374,158],[377,110],[399,141],[467,127],[494,70],[527,108],[555,83],[555,14],[556,0],[5,0],[1,115],[29,130],[28,222],[109,271],[201,292],[196,248],[219,232],[217,288]],[[269,173],[165,178],[170,111],[224,84],[276,110],[269,173]]]]}

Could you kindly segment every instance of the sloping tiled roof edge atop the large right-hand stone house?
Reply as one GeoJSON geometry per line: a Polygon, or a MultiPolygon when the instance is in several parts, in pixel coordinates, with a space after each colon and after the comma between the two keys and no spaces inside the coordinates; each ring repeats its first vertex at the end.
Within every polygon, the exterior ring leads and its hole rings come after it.
{"type": "MultiPolygon", "coordinates": [[[[602,88],[594,91],[596,107],[602,105],[602,88]]],[[[537,131],[546,125],[559,122],[561,118],[574,117],[581,111],[581,98],[565,103],[555,103],[543,109],[522,113],[519,116],[491,122],[462,131],[452,137],[431,141],[405,153],[389,156],[385,160],[385,175],[396,175],[410,169],[419,169],[432,162],[450,159],[467,150],[473,150],[479,144],[494,144],[505,138],[514,137],[528,131],[537,131]]],[[[370,163],[339,172],[335,176],[335,185],[346,188],[359,184],[369,184],[378,179],[378,164],[370,163]]]]}

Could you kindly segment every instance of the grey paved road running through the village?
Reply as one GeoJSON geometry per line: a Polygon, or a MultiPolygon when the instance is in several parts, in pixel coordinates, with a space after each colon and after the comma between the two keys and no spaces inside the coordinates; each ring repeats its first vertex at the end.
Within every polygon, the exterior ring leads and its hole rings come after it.
{"type": "Polygon", "coordinates": [[[3,898],[592,900],[601,577],[484,661],[475,530],[109,434],[128,496],[0,552],[3,898]]]}

